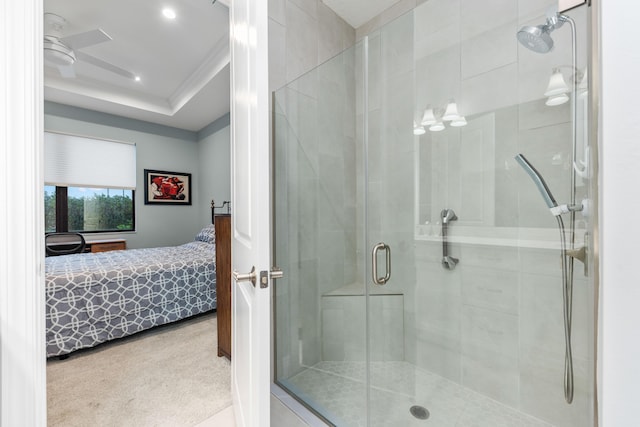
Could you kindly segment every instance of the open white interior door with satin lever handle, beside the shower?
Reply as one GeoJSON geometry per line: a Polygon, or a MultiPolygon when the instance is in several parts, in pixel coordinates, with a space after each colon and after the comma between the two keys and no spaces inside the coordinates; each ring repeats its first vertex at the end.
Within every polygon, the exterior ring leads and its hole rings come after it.
{"type": "Polygon", "coordinates": [[[271,215],[267,2],[232,0],[229,3],[234,211],[231,391],[238,426],[268,426],[271,215]],[[255,284],[246,280],[254,268],[255,284]],[[266,283],[261,280],[261,272],[267,275],[266,283]]]}

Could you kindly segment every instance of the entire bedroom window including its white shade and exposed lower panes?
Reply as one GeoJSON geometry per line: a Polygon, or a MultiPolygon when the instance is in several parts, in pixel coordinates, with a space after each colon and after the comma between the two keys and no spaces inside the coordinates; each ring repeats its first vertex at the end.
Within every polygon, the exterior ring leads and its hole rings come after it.
{"type": "Polygon", "coordinates": [[[133,231],[136,146],[45,132],[45,231],[133,231]]]}

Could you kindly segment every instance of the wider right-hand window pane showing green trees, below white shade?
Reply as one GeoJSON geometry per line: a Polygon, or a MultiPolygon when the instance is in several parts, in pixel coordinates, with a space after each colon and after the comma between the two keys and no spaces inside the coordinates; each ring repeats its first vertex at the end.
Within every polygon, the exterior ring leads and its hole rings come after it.
{"type": "Polygon", "coordinates": [[[69,231],[133,230],[133,190],[67,188],[69,231]]]}

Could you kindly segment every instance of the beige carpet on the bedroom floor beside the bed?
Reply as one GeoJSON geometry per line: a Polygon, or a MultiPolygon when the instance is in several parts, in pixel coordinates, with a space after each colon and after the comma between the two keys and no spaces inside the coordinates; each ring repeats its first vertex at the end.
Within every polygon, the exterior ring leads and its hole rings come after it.
{"type": "Polygon", "coordinates": [[[193,426],[231,405],[215,313],[47,362],[49,426],[193,426]]]}

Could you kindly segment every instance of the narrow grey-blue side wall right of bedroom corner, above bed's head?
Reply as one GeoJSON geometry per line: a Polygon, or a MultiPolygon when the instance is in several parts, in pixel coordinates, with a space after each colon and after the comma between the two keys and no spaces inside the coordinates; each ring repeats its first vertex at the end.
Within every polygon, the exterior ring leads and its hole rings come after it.
{"type": "MultiPolygon", "coordinates": [[[[200,224],[211,222],[211,200],[216,206],[231,200],[230,115],[226,114],[198,132],[198,210],[200,224]]],[[[216,210],[216,213],[226,212],[216,210]]]]}

